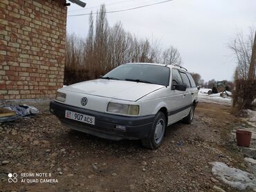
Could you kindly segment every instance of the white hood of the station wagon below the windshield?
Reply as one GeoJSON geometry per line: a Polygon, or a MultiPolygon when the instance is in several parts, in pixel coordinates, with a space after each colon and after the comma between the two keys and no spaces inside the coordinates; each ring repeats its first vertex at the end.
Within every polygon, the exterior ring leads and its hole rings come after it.
{"type": "Polygon", "coordinates": [[[135,102],[141,97],[164,87],[134,81],[95,79],[66,86],[62,90],[135,102]]]}

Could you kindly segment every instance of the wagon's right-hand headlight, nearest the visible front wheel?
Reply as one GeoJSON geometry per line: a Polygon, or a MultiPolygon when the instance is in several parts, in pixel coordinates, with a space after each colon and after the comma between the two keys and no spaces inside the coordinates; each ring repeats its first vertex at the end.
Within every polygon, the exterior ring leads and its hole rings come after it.
{"type": "Polygon", "coordinates": [[[121,113],[126,115],[138,115],[140,107],[138,105],[117,104],[109,102],[107,111],[111,113],[121,113]]]}

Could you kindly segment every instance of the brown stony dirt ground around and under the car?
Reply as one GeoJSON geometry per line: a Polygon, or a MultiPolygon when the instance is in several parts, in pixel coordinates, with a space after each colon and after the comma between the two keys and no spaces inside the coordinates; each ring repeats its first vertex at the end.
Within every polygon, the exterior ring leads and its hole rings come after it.
{"type": "Polygon", "coordinates": [[[71,131],[53,115],[17,119],[0,125],[0,191],[235,191],[214,178],[210,162],[246,170],[230,136],[240,124],[230,106],[200,103],[192,124],[168,127],[162,146],[150,151],[139,141],[71,131]],[[8,182],[8,173],[18,181],[8,182]],[[21,182],[21,173],[51,177],[21,182]]]}

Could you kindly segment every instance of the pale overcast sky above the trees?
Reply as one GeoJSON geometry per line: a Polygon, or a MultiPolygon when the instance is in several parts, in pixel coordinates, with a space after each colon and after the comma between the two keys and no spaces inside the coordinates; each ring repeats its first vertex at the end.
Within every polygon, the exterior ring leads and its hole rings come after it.
{"type": "MultiPolygon", "coordinates": [[[[104,3],[107,11],[145,6],[164,0],[82,0],[73,3],[68,15],[96,12],[104,3]]],[[[140,38],[154,39],[165,49],[181,53],[183,67],[208,81],[233,80],[235,59],[228,49],[237,32],[248,35],[256,28],[255,0],[173,0],[154,6],[108,13],[109,25],[121,21],[123,28],[140,38]]],[[[67,32],[86,37],[89,16],[67,17],[67,32]]]]}

